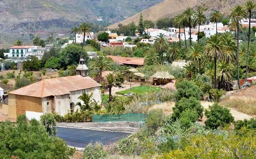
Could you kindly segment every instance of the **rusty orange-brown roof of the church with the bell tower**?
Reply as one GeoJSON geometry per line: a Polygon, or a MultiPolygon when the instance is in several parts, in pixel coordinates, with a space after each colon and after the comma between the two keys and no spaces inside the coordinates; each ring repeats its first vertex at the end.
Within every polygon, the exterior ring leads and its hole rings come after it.
{"type": "Polygon", "coordinates": [[[76,75],[43,79],[42,81],[9,92],[9,94],[44,98],[48,96],[70,94],[70,92],[75,90],[83,90],[100,86],[101,85],[99,83],[89,76],[83,77],[76,75]]]}

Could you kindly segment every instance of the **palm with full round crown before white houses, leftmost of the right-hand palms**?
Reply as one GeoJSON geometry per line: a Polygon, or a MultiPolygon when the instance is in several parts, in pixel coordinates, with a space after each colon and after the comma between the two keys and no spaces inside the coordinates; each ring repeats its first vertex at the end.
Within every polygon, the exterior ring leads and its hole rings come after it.
{"type": "Polygon", "coordinates": [[[166,35],[160,33],[160,35],[157,36],[157,39],[154,42],[155,49],[160,53],[160,56],[162,58],[163,52],[168,49],[169,41],[166,38],[166,35]]]}

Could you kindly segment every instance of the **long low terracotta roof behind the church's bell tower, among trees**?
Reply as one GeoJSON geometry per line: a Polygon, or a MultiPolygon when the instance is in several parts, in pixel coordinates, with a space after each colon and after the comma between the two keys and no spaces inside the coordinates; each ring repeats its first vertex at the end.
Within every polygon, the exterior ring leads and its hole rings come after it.
{"type": "Polygon", "coordinates": [[[130,65],[144,65],[144,58],[128,58],[121,56],[107,56],[108,58],[112,58],[113,61],[118,63],[119,65],[130,64],[130,65]]]}

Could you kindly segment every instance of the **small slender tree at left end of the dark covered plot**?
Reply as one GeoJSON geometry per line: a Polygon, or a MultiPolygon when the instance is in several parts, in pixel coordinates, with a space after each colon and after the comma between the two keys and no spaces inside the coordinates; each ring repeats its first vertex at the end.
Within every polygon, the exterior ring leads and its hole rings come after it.
{"type": "Polygon", "coordinates": [[[55,136],[57,133],[56,125],[57,122],[54,118],[54,115],[51,113],[46,113],[40,116],[40,122],[46,128],[46,131],[49,133],[50,136],[55,136]]]}

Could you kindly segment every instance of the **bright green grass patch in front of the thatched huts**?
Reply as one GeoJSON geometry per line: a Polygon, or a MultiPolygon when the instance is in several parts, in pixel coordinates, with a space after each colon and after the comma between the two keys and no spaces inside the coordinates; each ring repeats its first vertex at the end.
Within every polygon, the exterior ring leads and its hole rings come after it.
{"type": "MultiPolygon", "coordinates": [[[[159,88],[159,87],[138,86],[138,87],[133,87],[132,92],[137,95],[143,95],[151,91],[158,92],[161,89],[162,88],[159,88]]],[[[130,89],[116,92],[116,94],[129,94],[129,93],[130,93],[130,89]]]]}

